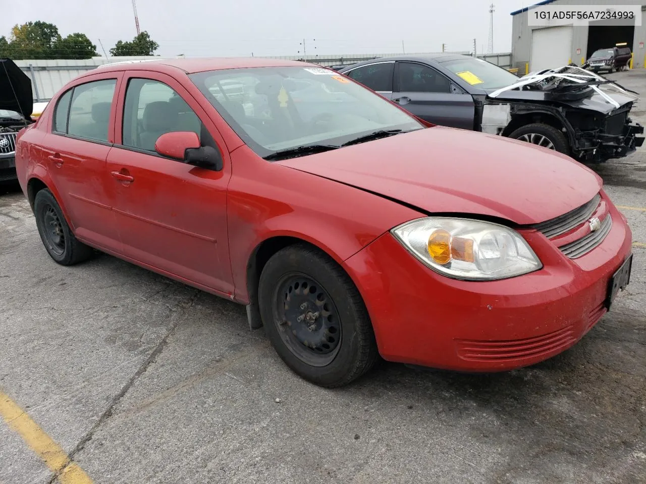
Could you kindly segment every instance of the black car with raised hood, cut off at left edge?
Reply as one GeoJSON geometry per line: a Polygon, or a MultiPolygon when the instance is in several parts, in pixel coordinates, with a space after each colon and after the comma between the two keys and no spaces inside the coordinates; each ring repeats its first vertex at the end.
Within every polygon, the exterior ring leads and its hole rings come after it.
{"type": "Polygon", "coordinates": [[[32,83],[10,59],[0,59],[0,183],[16,180],[16,135],[33,123],[32,83]]]}

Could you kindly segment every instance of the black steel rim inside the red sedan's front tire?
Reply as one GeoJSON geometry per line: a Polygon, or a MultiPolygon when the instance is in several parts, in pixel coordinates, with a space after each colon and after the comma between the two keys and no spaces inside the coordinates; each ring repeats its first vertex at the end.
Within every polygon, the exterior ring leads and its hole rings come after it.
{"type": "Polygon", "coordinates": [[[286,274],[276,285],[274,305],[280,338],[300,361],[324,367],[337,356],[339,311],[317,281],[304,274],[286,274]]]}

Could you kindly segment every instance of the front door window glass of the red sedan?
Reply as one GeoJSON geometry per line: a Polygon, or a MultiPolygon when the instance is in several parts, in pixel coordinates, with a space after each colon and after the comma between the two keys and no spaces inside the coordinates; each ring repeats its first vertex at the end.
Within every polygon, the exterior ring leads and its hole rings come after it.
{"type": "Polygon", "coordinates": [[[152,79],[130,79],[123,110],[123,145],[154,151],[165,133],[192,131],[200,136],[202,121],[170,86],[152,79]]]}

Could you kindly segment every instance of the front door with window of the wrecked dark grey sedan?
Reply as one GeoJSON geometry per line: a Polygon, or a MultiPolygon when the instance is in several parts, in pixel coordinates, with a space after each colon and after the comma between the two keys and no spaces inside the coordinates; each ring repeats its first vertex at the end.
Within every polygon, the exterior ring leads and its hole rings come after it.
{"type": "Polygon", "coordinates": [[[398,61],[392,100],[424,121],[472,130],[474,98],[426,64],[398,61]]]}

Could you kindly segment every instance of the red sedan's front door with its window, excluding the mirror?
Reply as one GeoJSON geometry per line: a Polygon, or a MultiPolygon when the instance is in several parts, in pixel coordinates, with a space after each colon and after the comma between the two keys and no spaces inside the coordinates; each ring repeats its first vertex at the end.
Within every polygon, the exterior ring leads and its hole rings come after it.
{"type": "Polygon", "coordinates": [[[120,97],[115,145],[107,174],[116,190],[114,212],[125,256],[198,285],[233,294],[227,240],[224,140],[195,99],[170,76],[129,72],[120,97]],[[127,83],[127,84],[126,84],[127,83]],[[218,148],[220,172],[157,154],[161,134],[193,131],[218,148]],[[217,141],[217,145],[216,145],[217,141]]]}

